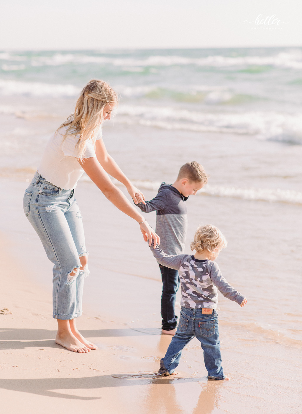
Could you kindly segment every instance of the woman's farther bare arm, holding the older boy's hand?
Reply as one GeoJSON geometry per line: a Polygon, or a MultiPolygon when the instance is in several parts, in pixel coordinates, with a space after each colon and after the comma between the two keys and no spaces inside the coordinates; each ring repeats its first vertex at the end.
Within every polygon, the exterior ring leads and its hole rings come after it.
{"type": "Polygon", "coordinates": [[[117,179],[119,182],[125,185],[135,204],[138,204],[140,202],[143,202],[143,204],[145,204],[145,197],[143,193],[134,185],[132,185],[131,181],[129,181],[123,171],[121,171],[121,168],[119,168],[112,156],[108,154],[102,138],[95,141],[95,153],[97,160],[104,168],[104,170],[113,178],[117,179]]]}

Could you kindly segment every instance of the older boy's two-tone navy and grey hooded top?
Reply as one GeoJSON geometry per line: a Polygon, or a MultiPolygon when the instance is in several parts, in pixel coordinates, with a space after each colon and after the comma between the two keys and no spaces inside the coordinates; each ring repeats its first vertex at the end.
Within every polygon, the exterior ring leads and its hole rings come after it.
{"type": "Polygon", "coordinates": [[[188,219],[184,197],[172,185],[162,183],[157,195],[138,207],[145,213],[156,210],[155,231],[160,237],[160,247],[168,255],[179,255],[185,248],[188,219]]]}

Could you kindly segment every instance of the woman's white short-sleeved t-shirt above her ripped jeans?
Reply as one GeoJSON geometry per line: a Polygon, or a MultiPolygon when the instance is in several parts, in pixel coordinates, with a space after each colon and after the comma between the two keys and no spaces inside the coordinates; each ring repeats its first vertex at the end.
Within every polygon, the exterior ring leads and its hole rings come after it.
{"type": "MultiPolygon", "coordinates": [[[[62,127],[57,134],[52,135],[48,141],[38,173],[47,181],[62,190],[72,190],[83,175],[83,168],[77,161],[79,135],[67,135],[63,141],[67,127],[62,127]],[[62,142],[63,141],[63,142],[62,142]]],[[[102,128],[96,134],[96,140],[102,138],[102,128]]],[[[82,158],[95,157],[95,148],[92,141],[86,141],[86,150],[82,158]]]]}

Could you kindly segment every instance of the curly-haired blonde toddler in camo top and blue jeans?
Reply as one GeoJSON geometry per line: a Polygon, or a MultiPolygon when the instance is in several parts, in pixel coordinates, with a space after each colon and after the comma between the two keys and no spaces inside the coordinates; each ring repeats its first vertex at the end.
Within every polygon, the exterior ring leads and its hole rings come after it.
{"type": "Polygon", "coordinates": [[[217,288],[231,301],[241,307],[247,299],[236,291],[221,275],[214,260],[222,248],[226,247],[226,239],[216,227],[208,224],[198,227],[191,250],[194,256],[166,255],[158,246],[150,246],[157,261],[166,267],[179,271],[181,280],[181,316],[175,336],[160,360],[159,375],[175,375],[174,369],[181,359],[181,351],[194,336],[200,341],[203,349],[207,378],[228,380],[221,366],[218,318],[216,306],[218,302],[217,288]]]}

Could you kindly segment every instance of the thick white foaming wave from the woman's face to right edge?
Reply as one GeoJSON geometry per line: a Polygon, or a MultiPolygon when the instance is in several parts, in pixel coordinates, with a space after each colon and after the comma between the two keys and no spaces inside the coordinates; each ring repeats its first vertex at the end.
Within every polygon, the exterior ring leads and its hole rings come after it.
{"type": "Polygon", "coordinates": [[[202,112],[172,107],[121,105],[119,123],[196,132],[257,135],[264,140],[302,144],[302,115],[273,111],[202,112]]]}

